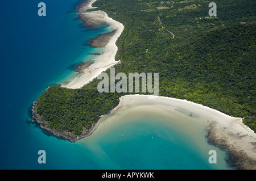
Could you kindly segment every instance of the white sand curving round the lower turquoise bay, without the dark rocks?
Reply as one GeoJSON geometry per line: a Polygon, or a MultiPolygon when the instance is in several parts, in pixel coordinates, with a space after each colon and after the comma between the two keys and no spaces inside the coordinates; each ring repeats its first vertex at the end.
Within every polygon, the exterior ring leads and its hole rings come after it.
{"type": "MultiPolygon", "coordinates": [[[[187,100],[167,98],[153,95],[126,95],[120,98],[119,105],[113,110],[118,110],[123,106],[131,106],[133,104],[144,104],[140,106],[142,110],[164,113],[164,111],[176,107],[183,108],[192,114],[207,117],[214,125],[214,131],[220,138],[225,139],[228,144],[233,145],[237,151],[245,151],[245,153],[253,159],[256,159],[256,146],[252,143],[256,142],[256,134],[242,123],[242,118],[232,117],[220,111],[203,106],[201,104],[189,102],[187,100]],[[152,97],[154,99],[152,99],[152,97]]],[[[256,165],[254,167],[256,169],[256,165]]]]}

